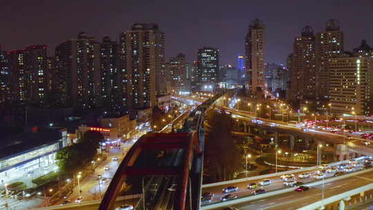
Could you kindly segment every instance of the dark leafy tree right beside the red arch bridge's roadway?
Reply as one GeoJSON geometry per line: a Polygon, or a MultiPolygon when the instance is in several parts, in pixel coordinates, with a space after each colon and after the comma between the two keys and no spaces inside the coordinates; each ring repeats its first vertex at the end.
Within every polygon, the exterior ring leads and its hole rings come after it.
{"type": "Polygon", "coordinates": [[[204,146],[204,166],[209,172],[207,180],[219,182],[231,179],[242,168],[239,151],[231,137],[233,120],[231,115],[215,111],[209,111],[207,115],[209,131],[204,146]]]}

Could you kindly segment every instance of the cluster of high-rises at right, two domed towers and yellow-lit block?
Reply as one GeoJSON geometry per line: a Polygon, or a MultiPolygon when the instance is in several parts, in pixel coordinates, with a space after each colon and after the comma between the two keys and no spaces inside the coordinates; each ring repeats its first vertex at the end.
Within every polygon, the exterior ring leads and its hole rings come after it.
{"type": "Polygon", "coordinates": [[[343,31],[330,19],[325,32],[303,28],[293,46],[287,57],[288,101],[315,113],[372,114],[373,49],[366,41],[345,51],[343,31]]]}

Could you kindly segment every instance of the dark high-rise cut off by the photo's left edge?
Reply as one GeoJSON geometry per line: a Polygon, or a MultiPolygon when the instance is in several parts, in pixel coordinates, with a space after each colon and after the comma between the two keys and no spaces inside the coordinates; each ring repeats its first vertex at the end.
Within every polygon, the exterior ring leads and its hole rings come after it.
{"type": "Polygon", "coordinates": [[[10,102],[10,69],[6,51],[0,45],[0,106],[10,102]]]}

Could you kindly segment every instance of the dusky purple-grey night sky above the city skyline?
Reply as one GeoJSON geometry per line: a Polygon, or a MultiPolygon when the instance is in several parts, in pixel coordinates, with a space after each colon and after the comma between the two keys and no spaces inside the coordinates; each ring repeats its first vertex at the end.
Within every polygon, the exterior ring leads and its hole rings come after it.
{"type": "Polygon", "coordinates": [[[245,1],[0,1],[0,44],[3,50],[47,44],[54,55],[57,44],[81,31],[101,41],[135,22],[154,22],[166,33],[166,57],[177,53],[196,59],[202,46],[220,49],[220,64],[236,66],[244,53],[249,23],[258,17],[266,24],[266,61],[283,64],[294,37],[303,26],[324,31],[328,19],[338,19],[345,32],[345,50],[361,39],[373,46],[372,0],[245,0],[245,1]]]}

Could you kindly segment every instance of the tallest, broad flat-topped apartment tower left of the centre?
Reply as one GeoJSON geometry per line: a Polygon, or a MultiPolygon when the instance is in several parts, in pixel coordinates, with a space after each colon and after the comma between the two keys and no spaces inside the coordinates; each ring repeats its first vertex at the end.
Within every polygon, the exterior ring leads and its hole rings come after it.
{"type": "Polygon", "coordinates": [[[164,41],[155,23],[135,23],[120,34],[122,99],[128,107],[155,106],[155,96],[166,93],[164,41]]]}

